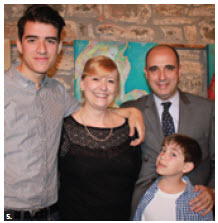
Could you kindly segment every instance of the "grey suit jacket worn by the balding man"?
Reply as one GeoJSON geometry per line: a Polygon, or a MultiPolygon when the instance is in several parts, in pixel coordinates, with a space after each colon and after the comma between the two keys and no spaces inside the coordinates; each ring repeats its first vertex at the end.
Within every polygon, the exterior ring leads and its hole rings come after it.
{"type": "MultiPolygon", "coordinates": [[[[164,135],[153,93],[121,107],[136,107],[143,113],[145,141],[142,144],[142,167],[136,182],[132,201],[132,216],[141,197],[157,178],[156,158],[160,152],[164,135]]],[[[193,185],[215,187],[215,108],[210,99],[179,91],[178,133],[195,138],[202,150],[202,162],[187,174],[193,185]]]]}

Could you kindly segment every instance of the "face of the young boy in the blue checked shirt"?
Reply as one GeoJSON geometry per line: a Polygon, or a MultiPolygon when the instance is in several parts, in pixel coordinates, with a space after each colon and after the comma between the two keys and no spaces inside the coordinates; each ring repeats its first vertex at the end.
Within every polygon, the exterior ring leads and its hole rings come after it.
{"type": "Polygon", "coordinates": [[[156,172],[162,176],[183,176],[186,173],[184,154],[175,142],[166,142],[156,160],[156,172]]]}

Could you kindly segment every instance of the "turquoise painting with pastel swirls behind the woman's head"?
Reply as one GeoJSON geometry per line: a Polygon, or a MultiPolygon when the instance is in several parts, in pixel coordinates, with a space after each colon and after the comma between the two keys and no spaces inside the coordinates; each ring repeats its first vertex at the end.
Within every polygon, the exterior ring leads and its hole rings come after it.
{"type": "Polygon", "coordinates": [[[86,61],[97,55],[113,59],[120,73],[120,93],[113,107],[122,102],[137,99],[151,92],[144,74],[145,55],[157,43],[114,42],[114,41],[74,41],[75,81],[74,95],[82,100],[79,82],[86,61]]]}

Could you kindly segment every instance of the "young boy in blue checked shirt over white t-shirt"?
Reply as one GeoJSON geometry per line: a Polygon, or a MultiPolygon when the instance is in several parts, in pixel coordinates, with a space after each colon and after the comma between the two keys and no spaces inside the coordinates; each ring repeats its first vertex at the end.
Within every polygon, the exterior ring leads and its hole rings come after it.
{"type": "Polygon", "coordinates": [[[201,161],[200,146],[193,138],[173,134],[163,141],[156,160],[159,177],[143,195],[134,221],[213,221],[212,212],[190,210],[189,202],[199,193],[184,174],[201,161]]]}

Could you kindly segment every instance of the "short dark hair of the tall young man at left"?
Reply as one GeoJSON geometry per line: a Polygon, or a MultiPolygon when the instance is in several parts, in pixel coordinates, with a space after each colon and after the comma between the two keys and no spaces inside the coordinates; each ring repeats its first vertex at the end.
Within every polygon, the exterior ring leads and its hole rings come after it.
{"type": "Polygon", "coordinates": [[[59,13],[50,6],[37,4],[26,9],[24,16],[21,17],[17,23],[18,37],[21,42],[27,21],[42,22],[53,25],[58,30],[58,41],[60,41],[61,31],[65,26],[65,22],[59,13]]]}

